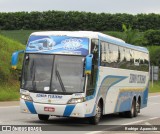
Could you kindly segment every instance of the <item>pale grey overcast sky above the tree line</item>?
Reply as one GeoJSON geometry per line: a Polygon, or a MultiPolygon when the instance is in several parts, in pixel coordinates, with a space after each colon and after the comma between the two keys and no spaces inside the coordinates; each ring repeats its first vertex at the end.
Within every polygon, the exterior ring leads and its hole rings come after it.
{"type": "Polygon", "coordinates": [[[160,14],[160,0],[0,0],[0,12],[48,10],[160,14]]]}

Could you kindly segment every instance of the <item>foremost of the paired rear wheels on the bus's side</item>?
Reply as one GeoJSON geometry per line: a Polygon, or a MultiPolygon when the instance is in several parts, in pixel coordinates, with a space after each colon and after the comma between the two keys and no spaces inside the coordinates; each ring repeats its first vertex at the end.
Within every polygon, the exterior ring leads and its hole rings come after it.
{"type": "Polygon", "coordinates": [[[136,116],[136,113],[137,113],[136,101],[133,99],[131,110],[126,112],[126,116],[129,117],[129,118],[133,118],[133,117],[136,116]]]}

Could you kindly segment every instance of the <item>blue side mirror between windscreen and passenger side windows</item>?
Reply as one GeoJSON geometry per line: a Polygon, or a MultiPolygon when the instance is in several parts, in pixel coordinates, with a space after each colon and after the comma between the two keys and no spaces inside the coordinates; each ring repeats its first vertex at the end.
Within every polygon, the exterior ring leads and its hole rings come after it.
{"type": "Polygon", "coordinates": [[[92,59],[93,59],[93,54],[89,54],[86,56],[86,60],[85,60],[85,74],[86,75],[90,75],[91,74],[91,70],[92,70],[92,59]]]}

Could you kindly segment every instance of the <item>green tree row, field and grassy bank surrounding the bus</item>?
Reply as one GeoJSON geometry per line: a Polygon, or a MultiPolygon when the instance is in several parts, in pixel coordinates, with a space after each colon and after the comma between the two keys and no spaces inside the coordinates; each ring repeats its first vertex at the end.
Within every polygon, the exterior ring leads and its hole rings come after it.
{"type": "MultiPolygon", "coordinates": [[[[0,101],[19,99],[19,72],[11,70],[11,54],[25,49],[32,32],[101,31],[123,39],[126,43],[147,47],[151,65],[160,67],[159,23],[160,14],[96,14],[74,11],[0,13],[0,101]]],[[[18,68],[22,66],[22,59],[23,56],[19,59],[18,68]]],[[[160,82],[154,82],[153,87],[150,84],[149,92],[160,92],[160,82]]]]}

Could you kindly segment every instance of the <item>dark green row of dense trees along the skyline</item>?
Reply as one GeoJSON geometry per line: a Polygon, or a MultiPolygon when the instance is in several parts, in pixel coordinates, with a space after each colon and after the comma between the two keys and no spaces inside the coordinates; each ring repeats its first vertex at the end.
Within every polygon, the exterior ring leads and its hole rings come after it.
{"type": "Polygon", "coordinates": [[[1,30],[122,31],[122,24],[146,31],[160,29],[159,14],[109,14],[77,11],[0,13],[1,30]]]}

